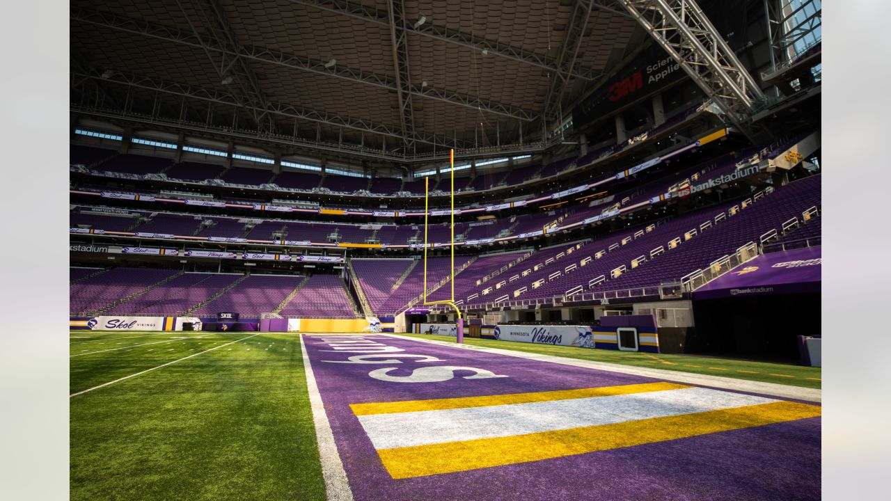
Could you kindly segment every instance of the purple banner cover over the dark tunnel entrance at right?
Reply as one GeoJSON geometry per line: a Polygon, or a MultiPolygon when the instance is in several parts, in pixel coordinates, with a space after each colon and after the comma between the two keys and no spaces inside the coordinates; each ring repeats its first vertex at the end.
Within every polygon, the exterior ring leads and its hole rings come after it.
{"type": "Polygon", "coordinates": [[[693,292],[693,299],[820,292],[821,276],[820,247],[774,252],[758,256],[700,287],[693,292]]]}

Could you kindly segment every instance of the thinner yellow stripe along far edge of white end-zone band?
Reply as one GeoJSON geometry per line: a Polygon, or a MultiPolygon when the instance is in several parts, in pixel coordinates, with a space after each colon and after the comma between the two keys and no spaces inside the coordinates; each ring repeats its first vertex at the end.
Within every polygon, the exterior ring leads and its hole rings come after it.
{"type": "Polygon", "coordinates": [[[549,402],[567,400],[569,398],[609,397],[613,395],[630,395],[647,391],[681,390],[690,388],[674,382],[647,382],[642,384],[623,384],[621,386],[604,386],[601,388],[582,388],[579,390],[539,391],[536,393],[508,393],[506,395],[486,395],[483,397],[432,398],[429,400],[405,400],[402,402],[380,402],[368,404],[352,404],[355,415],[394,414],[404,412],[433,411],[442,409],[459,409],[466,407],[505,406],[508,404],[528,404],[531,402],[549,402]]]}

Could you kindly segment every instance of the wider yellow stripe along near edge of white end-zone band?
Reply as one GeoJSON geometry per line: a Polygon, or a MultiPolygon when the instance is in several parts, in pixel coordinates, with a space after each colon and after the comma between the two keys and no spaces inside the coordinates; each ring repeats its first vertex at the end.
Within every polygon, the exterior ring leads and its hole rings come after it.
{"type": "Polygon", "coordinates": [[[818,406],[774,402],[512,437],[381,449],[378,455],[390,476],[406,479],[574,456],[818,415],[821,415],[818,406]]]}

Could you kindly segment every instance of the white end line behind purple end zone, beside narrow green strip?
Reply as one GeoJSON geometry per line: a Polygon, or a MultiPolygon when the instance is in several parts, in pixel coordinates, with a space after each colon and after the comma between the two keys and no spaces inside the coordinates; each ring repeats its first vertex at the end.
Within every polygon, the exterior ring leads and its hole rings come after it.
{"type": "Polygon", "coordinates": [[[684,373],[681,371],[666,371],[665,369],[651,369],[650,367],[635,367],[633,365],[609,364],[607,362],[594,362],[592,360],[583,360],[580,358],[556,357],[553,355],[528,353],[526,351],[514,351],[512,349],[489,348],[484,346],[458,344],[454,341],[449,342],[425,340],[407,336],[400,336],[398,334],[384,333],[383,335],[403,340],[427,342],[429,344],[448,346],[456,349],[470,349],[473,351],[483,351],[485,353],[507,355],[509,357],[528,358],[530,360],[538,360],[541,362],[551,362],[552,364],[585,367],[589,369],[597,369],[599,371],[608,371],[610,373],[633,374],[643,377],[656,378],[662,381],[686,382],[688,384],[711,386],[713,388],[721,388],[723,390],[748,391],[761,395],[771,395],[773,397],[781,398],[795,398],[797,400],[805,400],[808,402],[822,401],[822,391],[815,388],[802,388],[800,386],[789,386],[787,384],[776,384],[773,382],[748,381],[744,379],[733,379],[730,377],[713,376],[707,374],[684,373]]]}

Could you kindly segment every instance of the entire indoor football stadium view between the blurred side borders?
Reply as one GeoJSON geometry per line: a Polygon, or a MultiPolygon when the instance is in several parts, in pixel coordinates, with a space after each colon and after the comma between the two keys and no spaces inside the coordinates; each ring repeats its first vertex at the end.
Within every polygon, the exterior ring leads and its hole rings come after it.
{"type": "Polygon", "coordinates": [[[71,497],[819,498],[787,4],[72,3],[71,497]]]}

